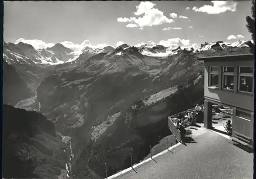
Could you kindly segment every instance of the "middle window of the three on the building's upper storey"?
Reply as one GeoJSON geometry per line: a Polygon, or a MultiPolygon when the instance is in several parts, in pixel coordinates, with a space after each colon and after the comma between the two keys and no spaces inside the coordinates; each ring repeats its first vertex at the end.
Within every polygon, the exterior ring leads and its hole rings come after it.
{"type": "Polygon", "coordinates": [[[224,89],[234,89],[234,67],[233,66],[223,66],[222,68],[222,88],[224,89]]]}

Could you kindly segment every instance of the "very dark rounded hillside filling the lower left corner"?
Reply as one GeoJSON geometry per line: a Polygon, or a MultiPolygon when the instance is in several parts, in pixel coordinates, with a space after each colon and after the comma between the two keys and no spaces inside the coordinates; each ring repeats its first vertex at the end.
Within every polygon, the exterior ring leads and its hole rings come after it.
{"type": "Polygon", "coordinates": [[[3,177],[55,178],[65,169],[67,147],[42,114],[3,106],[3,177]]]}

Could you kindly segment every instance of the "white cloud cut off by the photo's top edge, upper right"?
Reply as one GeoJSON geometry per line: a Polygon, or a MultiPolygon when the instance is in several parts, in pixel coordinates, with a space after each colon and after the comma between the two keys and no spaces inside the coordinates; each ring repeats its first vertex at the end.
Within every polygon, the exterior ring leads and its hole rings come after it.
{"type": "Polygon", "coordinates": [[[211,1],[213,6],[210,5],[204,5],[200,8],[193,7],[192,10],[196,12],[206,12],[208,14],[220,14],[226,11],[231,11],[234,12],[237,9],[237,4],[236,2],[233,1],[211,1]]]}

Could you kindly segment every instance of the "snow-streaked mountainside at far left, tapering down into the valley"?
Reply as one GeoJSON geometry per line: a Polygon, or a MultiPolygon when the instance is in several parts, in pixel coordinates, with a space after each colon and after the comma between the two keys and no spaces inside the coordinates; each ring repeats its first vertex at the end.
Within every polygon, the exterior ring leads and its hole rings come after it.
{"type": "Polygon", "coordinates": [[[4,42],[4,61],[14,66],[27,85],[34,91],[39,86],[42,79],[50,75],[57,69],[53,64],[64,63],[72,58],[73,50],[55,44],[47,49],[35,49],[32,45],[19,42],[4,42]]]}

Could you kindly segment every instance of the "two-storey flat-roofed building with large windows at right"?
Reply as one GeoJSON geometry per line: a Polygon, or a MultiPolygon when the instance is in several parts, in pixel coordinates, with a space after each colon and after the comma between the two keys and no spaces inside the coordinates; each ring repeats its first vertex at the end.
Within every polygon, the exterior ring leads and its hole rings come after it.
{"type": "Polygon", "coordinates": [[[254,56],[198,58],[204,62],[204,126],[212,127],[212,105],[232,109],[232,139],[252,148],[254,111],[254,56]]]}

